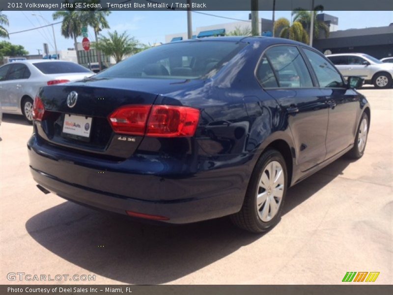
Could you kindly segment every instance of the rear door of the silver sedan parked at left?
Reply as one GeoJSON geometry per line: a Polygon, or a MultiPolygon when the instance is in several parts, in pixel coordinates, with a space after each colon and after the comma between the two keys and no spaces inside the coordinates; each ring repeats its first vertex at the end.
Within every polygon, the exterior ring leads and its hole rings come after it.
{"type": "Polygon", "coordinates": [[[28,67],[23,63],[12,63],[8,71],[7,81],[7,109],[17,112],[20,107],[20,100],[24,93],[24,83],[30,77],[28,67]]]}

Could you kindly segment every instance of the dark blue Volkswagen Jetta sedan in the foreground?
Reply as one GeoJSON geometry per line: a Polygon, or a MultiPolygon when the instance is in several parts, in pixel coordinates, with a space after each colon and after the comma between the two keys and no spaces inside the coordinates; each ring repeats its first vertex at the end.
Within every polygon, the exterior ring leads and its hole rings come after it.
{"type": "Polygon", "coordinates": [[[369,105],[302,43],[206,38],[154,47],[80,82],[43,87],[28,141],[44,192],[140,219],[280,219],[288,187],[360,158],[369,105]]]}

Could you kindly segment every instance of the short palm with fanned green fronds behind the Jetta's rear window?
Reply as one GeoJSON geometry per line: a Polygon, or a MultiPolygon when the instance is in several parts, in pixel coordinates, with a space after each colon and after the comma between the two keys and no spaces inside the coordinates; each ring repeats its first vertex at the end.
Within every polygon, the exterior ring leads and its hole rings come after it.
{"type": "Polygon", "coordinates": [[[124,56],[140,51],[138,40],[128,36],[126,32],[119,34],[114,31],[113,33],[108,32],[108,35],[109,37],[99,37],[93,47],[105,55],[112,56],[116,63],[121,61],[124,56]]]}

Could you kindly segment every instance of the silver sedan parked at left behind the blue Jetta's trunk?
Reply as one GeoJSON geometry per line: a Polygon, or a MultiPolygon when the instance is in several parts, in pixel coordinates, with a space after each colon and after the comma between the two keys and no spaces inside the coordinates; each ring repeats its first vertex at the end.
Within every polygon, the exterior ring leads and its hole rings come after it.
{"type": "Polygon", "coordinates": [[[2,112],[23,115],[31,123],[33,99],[40,87],[81,80],[93,74],[71,61],[30,59],[4,64],[0,67],[2,112]]]}

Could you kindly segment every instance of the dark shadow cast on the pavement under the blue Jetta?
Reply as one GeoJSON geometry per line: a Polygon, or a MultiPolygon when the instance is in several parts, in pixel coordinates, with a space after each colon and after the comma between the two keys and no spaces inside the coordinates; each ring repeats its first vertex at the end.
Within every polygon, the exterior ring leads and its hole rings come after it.
{"type": "MultiPolygon", "coordinates": [[[[338,159],[289,189],[283,214],[340,175],[349,163],[345,158],[338,159]]],[[[182,226],[157,226],[71,202],[31,217],[26,229],[60,258],[129,284],[173,281],[263,239],[263,235],[237,229],[228,217],[182,226]]]]}

